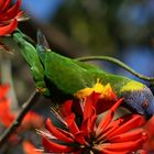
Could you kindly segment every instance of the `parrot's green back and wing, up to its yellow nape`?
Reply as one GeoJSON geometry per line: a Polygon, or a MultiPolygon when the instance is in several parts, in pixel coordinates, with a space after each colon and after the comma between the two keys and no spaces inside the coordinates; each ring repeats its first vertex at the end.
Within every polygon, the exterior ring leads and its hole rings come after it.
{"type": "Polygon", "coordinates": [[[110,84],[117,95],[123,90],[142,88],[143,84],[123,76],[112,75],[102,69],[53,52],[46,53],[45,75],[66,94],[75,94],[86,87],[92,87],[97,79],[102,85],[110,84]]]}

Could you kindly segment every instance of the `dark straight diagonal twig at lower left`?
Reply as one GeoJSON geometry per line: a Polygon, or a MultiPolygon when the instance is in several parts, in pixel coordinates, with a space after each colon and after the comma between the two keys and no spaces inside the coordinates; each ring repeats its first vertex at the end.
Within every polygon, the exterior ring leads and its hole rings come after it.
{"type": "Polygon", "coordinates": [[[24,102],[22,106],[21,111],[19,112],[16,119],[12,122],[9,129],[7,129],[3,134],[0,136],[0,147],[9,140],[10,135],[16,130],[16,128],[21,124],[24,116],[28,113],[28,111],[31,109],[31,107],[38,100],[40,94],[33,92],[33,95],[30,97],[30,99],[24,102]]]}

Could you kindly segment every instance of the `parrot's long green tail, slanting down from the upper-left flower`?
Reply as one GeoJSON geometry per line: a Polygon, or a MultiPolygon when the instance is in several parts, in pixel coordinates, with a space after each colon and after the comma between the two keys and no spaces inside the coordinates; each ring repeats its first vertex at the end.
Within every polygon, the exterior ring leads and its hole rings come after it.
{"type": "Polygon", "coordinates": [[[35,80],[36,89],[47,96],[48,90],[44,81],[44,67],[36,47],[32,45],[32,42],[26,40],[26,35],[24,35],[20,31],[15,31],[13,33],[13,40],[15,41],[15,43],[20,48],[19,52],[22,54],[24,59],[30,65],[33,79],[35,80]]]}

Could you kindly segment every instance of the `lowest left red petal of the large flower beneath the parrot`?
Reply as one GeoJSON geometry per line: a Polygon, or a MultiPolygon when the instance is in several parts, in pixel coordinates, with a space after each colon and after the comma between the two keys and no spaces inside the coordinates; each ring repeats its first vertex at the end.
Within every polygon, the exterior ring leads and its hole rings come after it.
{"type": "Polygon", "coordinates": [[[74,152],[75,151],[74,147],[55,143],[55,142],[51,141],[51,140],[47,140],[44,136],[43,136],[42,143],[43,143],[43,146],[45,147],[45,150],[47,152],[70,153],[70,152],[74,152]]]}

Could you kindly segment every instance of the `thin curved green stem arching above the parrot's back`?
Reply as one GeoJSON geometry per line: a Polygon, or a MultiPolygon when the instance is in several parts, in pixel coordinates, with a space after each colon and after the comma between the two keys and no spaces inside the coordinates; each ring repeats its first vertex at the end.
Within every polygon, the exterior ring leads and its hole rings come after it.
{"type": "Polygon", "coordinates": [[[136,73],[134,69],[129,67],[127,64],[124,64],[121,61],[119,61],[117,58],[113,58],[113,57],[109,57],[109,56],[86,56],[86,57],[79,57],[79,58],[76,58],[76,59],[77,61],[82,61],[82,62],[86,62],[86,61],[107,61],[107,62],[111,62],[111,63],[114,63],[116,65],[122,67],[123,69],[128,70],[132,75],[139,77],[140,79],[151,81],[152,84],[154,84],[154,78],[153,77],[147,77],[147,76],[144,76],[140,73],[136,73]]]}

